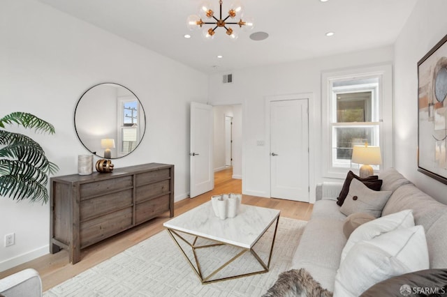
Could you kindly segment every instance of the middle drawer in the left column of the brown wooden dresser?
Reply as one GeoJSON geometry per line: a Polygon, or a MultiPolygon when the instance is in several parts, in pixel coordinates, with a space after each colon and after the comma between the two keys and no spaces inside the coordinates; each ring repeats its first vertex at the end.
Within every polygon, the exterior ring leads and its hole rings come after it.
{"type": "Polygon", "coordinates": [[[80,202],[80,220],[83,222],[126,206],[132,206],[132,189],[85,199],[80,202]]]}

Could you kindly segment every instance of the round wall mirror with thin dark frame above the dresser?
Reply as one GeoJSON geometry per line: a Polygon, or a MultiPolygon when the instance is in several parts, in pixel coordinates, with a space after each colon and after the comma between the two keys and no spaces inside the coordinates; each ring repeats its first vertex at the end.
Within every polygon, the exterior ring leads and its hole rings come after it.
{"type": "Polygon", "coordinates": [[[75,109],[80,142],[98,157],[122,158],[140,144],[146,114],[135,94],[120,84],[97,84],[88,89],[75,109]]]}

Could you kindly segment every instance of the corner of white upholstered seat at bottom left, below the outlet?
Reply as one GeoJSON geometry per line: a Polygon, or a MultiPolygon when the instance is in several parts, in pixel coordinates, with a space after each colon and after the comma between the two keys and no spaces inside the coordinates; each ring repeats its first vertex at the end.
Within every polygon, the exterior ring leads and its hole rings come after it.
{"type": "Polygon", "coordinates": [[[42,282],[38,272],[24,269],[0,280],[0,296],[41,297],[42,282]]]}

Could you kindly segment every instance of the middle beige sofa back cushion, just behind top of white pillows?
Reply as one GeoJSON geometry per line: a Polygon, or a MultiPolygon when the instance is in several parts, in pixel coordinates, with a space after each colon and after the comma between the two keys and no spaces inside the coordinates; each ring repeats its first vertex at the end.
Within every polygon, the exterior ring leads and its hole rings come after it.
{"type": "Polygon", "coordinates": [[[404,209],[413,210],[414,223],[422,225],[426,233],[441,215],[447,213],[446,205],[434,200],[413,184],[402,185],[395,190],[383,208],[382,215],[404,209]]]}

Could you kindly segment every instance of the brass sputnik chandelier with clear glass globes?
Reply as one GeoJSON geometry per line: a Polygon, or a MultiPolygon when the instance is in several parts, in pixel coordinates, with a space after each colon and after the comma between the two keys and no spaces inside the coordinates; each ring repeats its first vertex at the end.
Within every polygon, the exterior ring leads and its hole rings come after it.
{"type": "Polygon", "coordinates": [[[253,19],[251,17],[244,17],[242,20],[242,5],[240,1],[235,1],[228,10],[228,16],[222,18],[222,0],[219,0],[219,18],[214,15],[214,10],[210,2],[205,2],[200,6],[199,15],[190,15],[187,19],[188,28],[201,29],[203,28],[203,36],[205,38],[212,39],[216,33],[216,29],[221,27],[226,30],[227,36],[231,39],[237,38],[237,32],[234,31],[230,25],[237,25],[241,29],[252,29],[253,19]],[[239,22],[228,22],[228,19],[239,19],[239,22]],[[203,22],[202,19],[205,19],[203,22]],[[209,28],[205,28],[204,25],[212,25],[209,28]]]}

